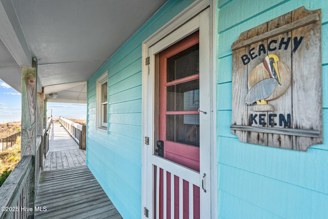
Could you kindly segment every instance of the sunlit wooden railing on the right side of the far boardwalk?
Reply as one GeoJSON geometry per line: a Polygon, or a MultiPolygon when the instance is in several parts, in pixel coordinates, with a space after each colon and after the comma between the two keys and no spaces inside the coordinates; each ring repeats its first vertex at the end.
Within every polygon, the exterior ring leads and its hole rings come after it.
{"type": "Polygon", "coordinates": [[[64,128],[69,132],[69,134],[73,137],[75,142],[79,145],[79,148],[82,150],[86,149],[86,134],[87,128],[85,125],[80,125],[78,123],[74,123],[70,120],[67,120],[64,117],[59,117],[59,122],[64,128]]]}

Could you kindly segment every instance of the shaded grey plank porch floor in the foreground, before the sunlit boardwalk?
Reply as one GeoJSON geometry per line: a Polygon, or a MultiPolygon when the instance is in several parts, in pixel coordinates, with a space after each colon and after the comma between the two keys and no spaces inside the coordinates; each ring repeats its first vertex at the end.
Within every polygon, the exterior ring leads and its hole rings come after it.
{"type": "Polygon", "coordinates": [[[34,218],[122,218],[88,167],[44,172],[34,218]]]}

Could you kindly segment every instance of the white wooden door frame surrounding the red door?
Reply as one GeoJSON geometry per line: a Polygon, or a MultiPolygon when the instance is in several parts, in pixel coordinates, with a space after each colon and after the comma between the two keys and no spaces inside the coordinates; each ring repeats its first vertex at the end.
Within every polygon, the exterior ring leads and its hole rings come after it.
{"type": "MultiPolygon", "coordinates": [[[[194,32],[199,26],[204,31],[207,31],[210,35],[210,42],[208,42],[208,48],[210,48],[210,51],[208,51],[210,56],[210,65],[207,66],[207,71],[210,72],[210,75],[207,79],[207,82],[211,88],[210,93],[208,95],[210,96],[210,104],[207,107],[207,109],[201,109],[203,111],[207,111],[210,118],[211,123],[211,131],[210,131],[210,150],[208,150],[207,154],[200,154],[200,156],[207,156],[210,157],[211,161],[209,163],[209,166],[207,167],[210,169],[210,173],[208,174],[208,177],[211,178],[210,181],[205,181],[204,187],[210,188],[207,189],[210,192],[210,200],[211,200],[211,209],[210,212],[208,212],[208,217],[215,218],[217,215],[217,180],[216,180],[216,96],[215,96],[215,54],[213,52],[213,17],[215,9],[213,8],[213,2],[208,1],[196,1],[191,6],[189,6],[187,9],[183,10],[180,14],[178,14],[176,17],[174,17],[169,23],[167,23],[165,26],[160,28],[158,31],[156,31],[152,36],[150,36],[146,41],[142,44],[142,190],[141,190],[141,216],[142,218],[146,218],[145,216],[145,208],[149,210],[149,218],[153,218],[152,215],[152,203],[153,203],[153,197],[154,193],[152,191],[152,185],[148,185],[147,182],[152,182],[152,174],[148,174],[149,171],[153,171],[150,167],[152,166],[150,163],[151,156],[154,153],[154,144],[156,144],[157,136],[155,133],[155,103],[154,103],[154,97],[155,97],[155,79],[154,79],[154,73],[155,72],[155,56],[154,54],[158,53],[160,50],[166,49],[169,46],[173,45],[174,43],[180,41],[180,39],[186,37],[190,33],[194,32]],[[197,16],[201,11],[204,9],[210,7],[209,12],[207,15],[207,24],[204,25],[202,22],[199,22],[199,18],[195,19],[195,16],[197,16]],[[183,26],[182,26],[183,25],[183,26]],[[206,27],[207,26],[207,27],[206,27]],[[179,31],[176,31],[177,28],[179,31]],[[182,34],[181,34],[182,33],[182,34]],[[169,37],[167,37],[170,35],[169,37]],[[156,45],[155,45],[156,44],[156,45]],[[155,45],[155,46],[154,46],[155,45]],[[152,48],[151,48],[152,47],[152,48]],[[149,48],[151,48],[152,51],[149,51],[149,48]],[[160,49],[160,50],[159,50],[160,49]],[[152,54],[150,54],[152,53],[152,54]],[[150,65],[146,65],[146,57],[150,57],[150,65]],[[146,137],[149,137],[149,145],[146,144],[146,137]],[[155,139],[156,138],[156,139],[155,139]]],[[[204,13],[203,13],[204,14],[204,13]]],[[[204,15],[202,15],[204,17],[204,15]]],[[[205,20],[206,21],[206,20],[205,20]]],[[[200,33],[201,37],[201,33],[200,33]]],[[[200,57],[201,58],[201,57],[200,57]]],[[[205,66],[206,67],[206,66],[205,66]]],[[[200,174],[202,175],[202,170],[200,170],[200,174]]],[[[200,188],[201,189],[201,188],[200,188]]]]}

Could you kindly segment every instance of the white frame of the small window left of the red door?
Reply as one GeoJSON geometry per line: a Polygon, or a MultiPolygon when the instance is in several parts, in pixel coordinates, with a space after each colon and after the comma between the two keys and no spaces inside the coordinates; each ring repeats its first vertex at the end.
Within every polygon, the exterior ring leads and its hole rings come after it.
{"type": "Polygon", "coordinates": [[[107,83],[107,99],[108,99],[108,71],[101,75],[96,82],[96,119],[97,128],[100,130],[108,129],[108,101],[102,102],[101,97],[103,96],[102,86],[107,83]],[[104,105],[106,105],[107,112],[107,122],[104,122],[104,105]]]}

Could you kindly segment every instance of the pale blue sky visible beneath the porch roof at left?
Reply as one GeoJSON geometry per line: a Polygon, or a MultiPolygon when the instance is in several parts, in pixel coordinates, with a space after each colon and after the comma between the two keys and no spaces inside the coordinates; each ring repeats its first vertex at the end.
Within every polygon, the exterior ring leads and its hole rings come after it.
{"type": "MultiPolygon", "coordinates": [[[[86,104],[47,103],[47,116],[86,119],[86,104]]],[[[0,123],[20,121],[22,95],[0,79],[0,123]]]]}

